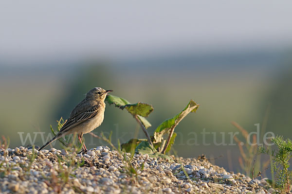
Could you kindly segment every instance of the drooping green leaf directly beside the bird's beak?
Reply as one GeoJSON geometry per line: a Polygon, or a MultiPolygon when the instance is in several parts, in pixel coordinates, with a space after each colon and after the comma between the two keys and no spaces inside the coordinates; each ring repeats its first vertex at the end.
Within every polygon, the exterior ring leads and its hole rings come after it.
{"type": "Polygon", "coordinates": [[[128,112],[133,116],[137,115],[138,119],[141,121],[146,129],[151,126],[151,124],[144,117],[147,117],[153,111],[152,105],[141,102],[131,104],[128,100],[124,98],[113,96],[110,94],[107,95],[105,101],[107,101],[110,105],[114,104],[116,107],[119,107],[122,110],[126,108],[128,112]]]}

